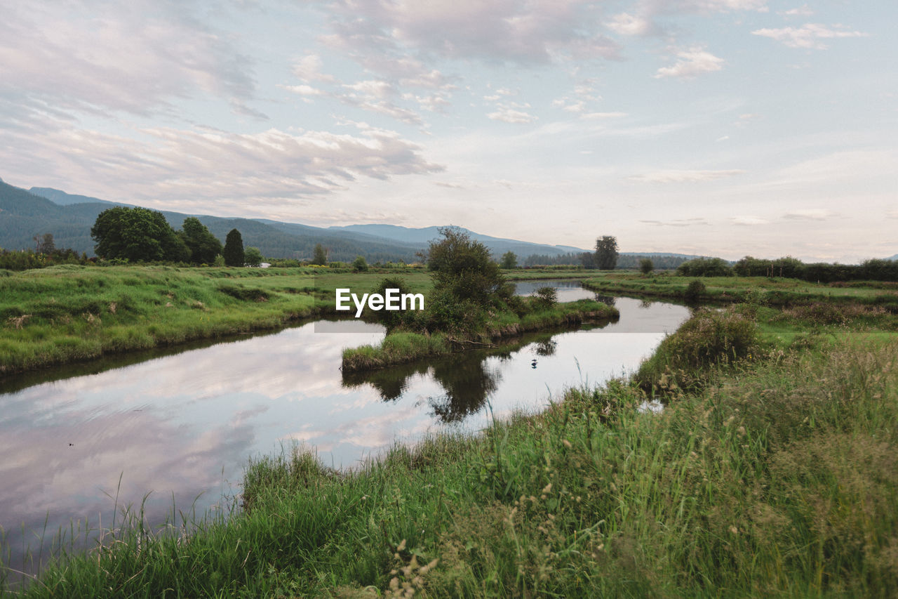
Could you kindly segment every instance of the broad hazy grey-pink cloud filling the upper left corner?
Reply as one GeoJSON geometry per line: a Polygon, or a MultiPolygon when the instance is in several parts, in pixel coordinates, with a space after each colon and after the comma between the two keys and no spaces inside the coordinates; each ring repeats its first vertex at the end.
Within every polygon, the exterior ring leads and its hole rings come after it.
{"type": "Polygon", "coordinates": [[[4,6],[0,96],[17,96],[30,110],[147,115],[174,99],[215,94],[252,113],[246,102],[255,85],[250,60],[184,4],[4,6]]]}

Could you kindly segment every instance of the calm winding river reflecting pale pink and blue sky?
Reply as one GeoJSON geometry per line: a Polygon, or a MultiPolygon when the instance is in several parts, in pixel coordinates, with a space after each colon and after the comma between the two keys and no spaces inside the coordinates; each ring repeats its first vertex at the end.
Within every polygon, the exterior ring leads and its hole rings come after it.
{"type": "MultiPolygon", "coordinates": [[[[518,293],[546,284],[560,301],[595,297],[570,281],[518,283],[518,293]]],[[[689,316],[673,304],[603,299],[620,309],[618,322],[346,378],[343,348],[377,343],[381,326],[319,320],[0,381],[0,562],[33,570],[27,548],[36,559],[43,542],[46,557],[60,527],[107,527],[116,505],[148,493],[148,523],[172,505],[198,514],[230,505],[247,460],[292,443],[351,468],[396,440],[479,430],[488,403],[497,417],[540,409],[566,387],[633,370],[689,316]]]]}

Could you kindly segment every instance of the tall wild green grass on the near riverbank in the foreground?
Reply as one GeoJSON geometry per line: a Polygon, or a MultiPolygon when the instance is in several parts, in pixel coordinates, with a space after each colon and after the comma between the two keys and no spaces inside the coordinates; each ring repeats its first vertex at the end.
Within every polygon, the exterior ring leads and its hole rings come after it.
{"type": "Polygon", "coordinates": [[[251,463],[245,509],[139,529],[24,596],[890,596],[898,343],[712,369],[660,415],[612,382],[354,472],[251,463]]]}

